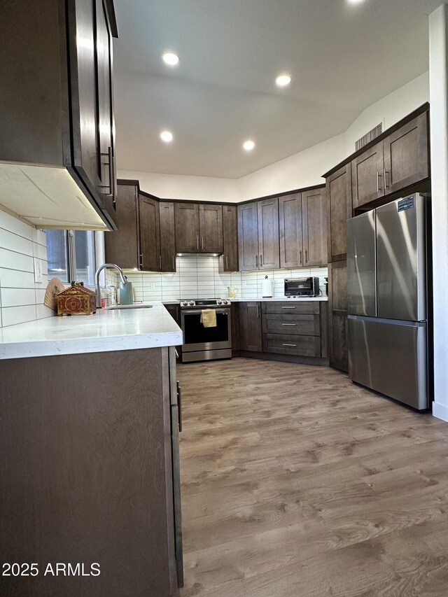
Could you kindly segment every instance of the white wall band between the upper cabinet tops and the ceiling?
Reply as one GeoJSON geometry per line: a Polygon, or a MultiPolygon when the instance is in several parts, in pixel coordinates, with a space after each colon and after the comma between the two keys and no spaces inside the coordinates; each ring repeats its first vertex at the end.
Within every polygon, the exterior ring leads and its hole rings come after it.
{"type": "Polygon", "coordinates": [[[172,176],[118,170],[119,178],[137,178],[140,187],[158,197],[196,201],[239,202],[296,188],[322,184],[322,174],[355,150],[355,141],[379,122],[391,127],[429,100],[429,73],[410,81],[372,104],[348,129],[318,145],[239,179],[172,176]]]}

